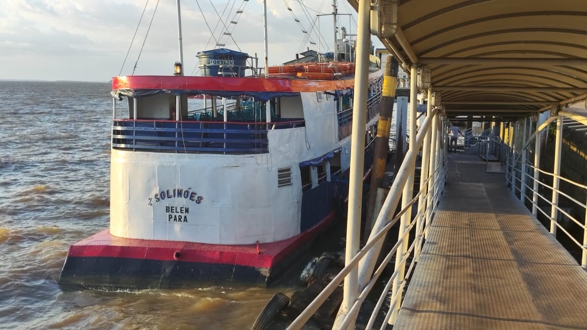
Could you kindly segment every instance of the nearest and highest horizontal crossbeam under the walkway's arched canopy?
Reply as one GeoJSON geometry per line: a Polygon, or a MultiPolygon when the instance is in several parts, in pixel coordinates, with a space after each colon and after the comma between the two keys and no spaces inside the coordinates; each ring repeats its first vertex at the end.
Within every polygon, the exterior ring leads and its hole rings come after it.
{"type": "MultiPolygon", "coordinates": [[[[398,38],[398,41],[399,38],[398,38]]],[[[400,41],[401,43],[401,41],[400,41]]],[[[402,45],[403,48],[403,45],[402,45]]],[[[404,48],[405,49],[405,48],[404,48]]],[[[411,59],[411,58],[410,58],[411,59]]],[[[427,65],[515,65],[515,66],[548,66],[548,65],[587,65],[587,58],[420,58],[420,63],[427,65]]]]}

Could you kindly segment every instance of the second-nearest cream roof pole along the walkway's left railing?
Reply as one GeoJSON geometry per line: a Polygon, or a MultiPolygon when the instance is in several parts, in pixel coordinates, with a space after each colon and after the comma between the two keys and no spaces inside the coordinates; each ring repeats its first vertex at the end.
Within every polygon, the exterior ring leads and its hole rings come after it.
{"type": "MultiPolygon", "coordinates": [[[[416,112],[418,106],[418,89],[416,86],[417,83],[417,74],[418,68],[415,65],[412,65],[410,68],[410,147],[409,150],[414,150],[415,142],[416,142],[416,112]]],[[[410,203],[410,200],[413,198],[414,193],[414,167],[410,169],[409,176],[407,177],[406,185],[403,188],[402,193],[402,208],[407,207],[407,204],[410,203]]],[[[401,237],[403,233],[406,231],[406,228],[411,223],[411,211],[407,211],[406,213],[402,214],[400,218],[400,228],[398,237],[401,237]]],[[[403,241],[402,247],[397,249],[396,252],[396,265],[395,270],[398,272],[397,276],[393,279],[393,286],[392,286],[392,297],[397,294],[397,302],[393,308],[393,311],[390,311],[392,315],[389,319],[389,324],[394,324],[397,319],[397,314],[400,311],[400,307],[402,304],[402,294],[399,291],[400,284],[404,280],[404,274],[406,272],[406,264],[402,263],[402,258],[407,252],[408,242],[407,240],[403,241]]]]}

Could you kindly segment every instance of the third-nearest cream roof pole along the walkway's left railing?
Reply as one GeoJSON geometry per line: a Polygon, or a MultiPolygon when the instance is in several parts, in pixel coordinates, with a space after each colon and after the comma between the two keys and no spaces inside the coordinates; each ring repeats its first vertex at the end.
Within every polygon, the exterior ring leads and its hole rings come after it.
{"type": "MultiPolygon", "coordinates": [[[[432,114],[432,87],[428,89],[428,103],[426,104],[426,116],[431,116],[432,114]]],[[[424,137],[424,144],[422,145],[422,163],[420,165],[420,197],[418,198],[418,212],[420,215],[416,218],[416,240],[420,235],[420,231],[422,231],[424,215],[427,213],[427,208],[429,205],[426,204],[428,200],[426,194],[428,192],[428,184],[426,181],[429,177],[429,169],[430,169],[430,139],[431,139],[431,132],[426,133],[426,137],[424,137]],[[422,210],[424,207],[424,210],[422,210]]],[[[424,223],[425,224],[425,223],[424,223]]],[[[426,227],[424,227],[426,228],[426,227]]],[[[414,260],[418,261],[420,258],[420,244],[416,245],[416,249],[414,251],[414,260]]]]}

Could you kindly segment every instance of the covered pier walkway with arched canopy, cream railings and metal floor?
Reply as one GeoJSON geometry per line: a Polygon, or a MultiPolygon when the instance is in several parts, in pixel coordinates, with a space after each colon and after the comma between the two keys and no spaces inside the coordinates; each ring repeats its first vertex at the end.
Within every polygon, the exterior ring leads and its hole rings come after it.
{"type": "Polygon", "coordinates": [[[345,268],[288,329],[320,321],[339,285],[333,329],[586,329],[587,3],[349,3],[357,58],[375,33],[426,113],[406,109],[409,148],[366,233],[351,176],[345,268]]]}

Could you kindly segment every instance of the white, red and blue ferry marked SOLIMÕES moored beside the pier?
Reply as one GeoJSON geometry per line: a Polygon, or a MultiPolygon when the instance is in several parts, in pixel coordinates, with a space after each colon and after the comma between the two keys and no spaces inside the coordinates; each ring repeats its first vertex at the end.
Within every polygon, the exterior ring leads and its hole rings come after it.
{"type": "MultiPolygon", "coordinates": [[[[71,245],[60,284],[266,285],[335,219],[348,194],[354,63],[275,67],[290,76],[266,77],[245,76],[246,53],[198,58],[203,76],[180,66],[112,79],[110,227],[71,245]],[[304,74],[325,70],[328,79],[304,74]],[[196,95],[210,104],[193,107],[196,95]]],[[[365,169],[382,90],[383,72],[372,69],[365,169]]]]}

